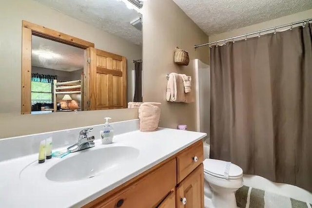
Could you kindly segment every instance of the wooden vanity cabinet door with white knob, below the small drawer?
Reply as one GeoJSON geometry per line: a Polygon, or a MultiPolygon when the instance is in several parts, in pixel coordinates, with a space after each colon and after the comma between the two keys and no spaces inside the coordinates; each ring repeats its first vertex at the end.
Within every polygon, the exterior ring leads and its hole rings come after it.
{"type": "Polygon", "coordinates": [[[204,208],[203,164],[200,164],[176,188],[176,205],[176,208],[204,208]]]}

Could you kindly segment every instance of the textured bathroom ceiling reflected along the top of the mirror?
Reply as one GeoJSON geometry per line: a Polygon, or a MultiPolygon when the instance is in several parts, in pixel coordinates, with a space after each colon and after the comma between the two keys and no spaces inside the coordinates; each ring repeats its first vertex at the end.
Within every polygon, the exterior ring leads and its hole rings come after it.
{"type": "MultiPolygon", "coordinates": [[[[65,15],[91,24],[137,45],[142,44],[142,32],[130,24],[141,17],[119,0],[36,0],[65,15]]],[[[53,17],[51,17],[53,18],[53,17]]]]}

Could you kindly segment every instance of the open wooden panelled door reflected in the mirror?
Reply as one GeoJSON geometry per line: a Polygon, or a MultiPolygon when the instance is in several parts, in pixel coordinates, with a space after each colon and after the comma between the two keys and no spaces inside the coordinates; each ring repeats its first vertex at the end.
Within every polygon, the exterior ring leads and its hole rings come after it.
{"type": "Polygon", "coordinates": [[[95,48],[89,48],[87,55],[89,110],[126,108],[126,58],[95,48]]]}

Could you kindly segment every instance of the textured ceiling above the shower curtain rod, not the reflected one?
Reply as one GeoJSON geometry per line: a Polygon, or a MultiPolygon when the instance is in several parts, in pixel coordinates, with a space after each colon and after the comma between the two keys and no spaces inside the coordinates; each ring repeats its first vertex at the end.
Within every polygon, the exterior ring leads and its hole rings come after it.
{"type": "Polygon", "coordinates": [[[276,19],[312,8],[312,0],[174,0],[207,34],[276,19]]]}

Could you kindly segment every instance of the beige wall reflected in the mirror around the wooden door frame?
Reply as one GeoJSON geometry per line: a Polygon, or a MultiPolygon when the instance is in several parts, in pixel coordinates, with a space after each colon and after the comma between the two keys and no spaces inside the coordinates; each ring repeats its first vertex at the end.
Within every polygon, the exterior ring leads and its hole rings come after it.
{"type": "MultiPolygon", "coordinates": [[[[95,43],[95,47],[128,59],[129,75],[132,59],[141,58],[141,46],[108,34],[90,24],[50,9],[33,0],[7,0],[0,12],[0,113],[20,113],[21,85],[21,21],[22,19],[95,43]]],[[[131,83],[129,76],[129,83],[131,83]]],[[[128,92],[132,97],[132,86],[128,92]]]]}

